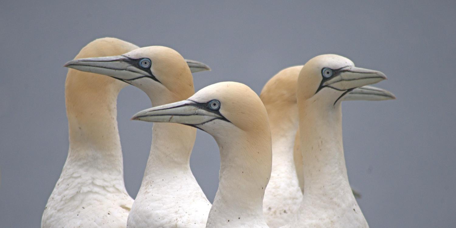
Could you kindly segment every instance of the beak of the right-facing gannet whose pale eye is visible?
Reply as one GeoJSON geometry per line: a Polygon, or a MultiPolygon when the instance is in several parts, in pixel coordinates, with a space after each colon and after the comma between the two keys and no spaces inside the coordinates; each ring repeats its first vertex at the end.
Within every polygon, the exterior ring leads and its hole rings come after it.
{"type": "Polygon", "coordinates": [[[385,74],[379,71],[359,67],[344,67],[338,70],[336,77],[322,83],[321,87],[331,87],[343,91],[378,83],[385,79],[385,74]]]}

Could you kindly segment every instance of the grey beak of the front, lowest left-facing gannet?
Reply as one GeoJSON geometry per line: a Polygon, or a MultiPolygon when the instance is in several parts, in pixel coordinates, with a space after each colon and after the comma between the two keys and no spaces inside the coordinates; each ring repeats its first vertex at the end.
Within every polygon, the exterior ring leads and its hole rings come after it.
{"type": "Polygon", "coordinates": [[[135,114],[131,119],[146,122],[186,124],[191,126],[204,124],[214,119],[226,120],[221,114],[210,111],[206,104],[196,103],[191,100],[184,100],[145,109],[135,114]]]}

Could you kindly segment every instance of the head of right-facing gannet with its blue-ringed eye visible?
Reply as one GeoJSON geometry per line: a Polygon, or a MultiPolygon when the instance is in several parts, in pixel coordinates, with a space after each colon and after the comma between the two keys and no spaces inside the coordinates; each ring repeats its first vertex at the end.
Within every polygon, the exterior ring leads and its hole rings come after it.
{"type": "MultiPolygon", "coordinates": [[[[346,57],[333,54],[320,55],[312,58],[302,67],[297,83],[298,98],[321,98],[334,105],[354,89],[385,79],[386,76],[379,71],[355,67],[346,57]]],[[[378,90],[376,88],[366,88],[366,90],[369,89],[374,94],[382,92],[376,91],[378,90]]],[[[352,94],[351,99],[356,98],[356,95],[356,93],[352,94]]],[[[366,99],[369,99],[369,96],[366,99]]]]}

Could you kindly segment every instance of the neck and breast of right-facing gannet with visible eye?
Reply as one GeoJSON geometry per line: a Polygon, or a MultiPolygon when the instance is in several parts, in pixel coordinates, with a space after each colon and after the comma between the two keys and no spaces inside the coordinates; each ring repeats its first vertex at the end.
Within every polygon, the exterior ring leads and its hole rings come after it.
{"type": "Polygon", "coordinates": [[[314,99],[299,106],[305,185],[291,227],[368,227],[348,182],[341,103],[328,106],[314,99]]]}

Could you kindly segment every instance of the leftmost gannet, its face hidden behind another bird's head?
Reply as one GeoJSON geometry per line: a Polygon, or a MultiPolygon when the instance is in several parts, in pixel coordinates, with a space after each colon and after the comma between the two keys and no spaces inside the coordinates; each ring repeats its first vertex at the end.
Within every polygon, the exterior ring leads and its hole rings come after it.
{"type": "MultiPolygon", "coordinates": [[[[76,58],[116,55],[137,48],[114,38],[92,41],[76,58]]],[[[116,100],[126,84],[68,70],[65,98],[69,150],[41,219],[42,228],[123,228],[133,199],[124,186],[116,100]]]]}

